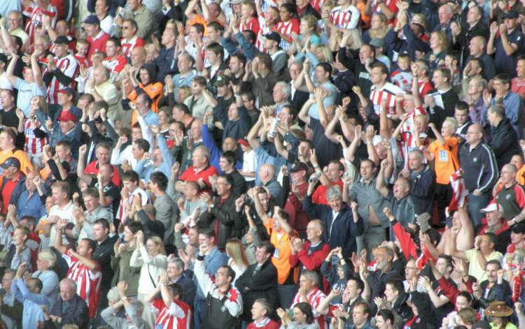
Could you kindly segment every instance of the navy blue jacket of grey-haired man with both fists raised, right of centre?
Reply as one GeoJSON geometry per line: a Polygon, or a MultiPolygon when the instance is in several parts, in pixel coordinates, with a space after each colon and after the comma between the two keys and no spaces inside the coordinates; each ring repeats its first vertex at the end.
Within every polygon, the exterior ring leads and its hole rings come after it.
{"type": "Polygon", "coordinates": [[[363,235],[365,230],[363,219],[359,218],[357,223],[353,221],[353,214],[349,207],[343,205],[334,219],[332,207],[312,203],[311,196],[307,195],[302,200],[302,210],[307,213],[309,218],[321,219],[325,224],[323,240],[330,245],[330,249],[341,247],[344,257],[348,257],[353,251],[356,251],[356,237],[363,235]]]}

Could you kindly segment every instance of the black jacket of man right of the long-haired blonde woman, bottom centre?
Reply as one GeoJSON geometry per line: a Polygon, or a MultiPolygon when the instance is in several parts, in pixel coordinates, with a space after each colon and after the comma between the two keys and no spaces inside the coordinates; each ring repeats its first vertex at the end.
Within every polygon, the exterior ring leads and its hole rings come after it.
{"type": "Polygon", "coordinates": [[[277,295],[277,269],[272,264],[271,257],[262,264],[260,270],[253,275],[257,263],[248,266],[246,271],[237,279],[235,286],[242,294],[244,307],[241,319],[251,321],[251,307],[258,298],[266,298],[272,309],[279,304],[277,295]]]}

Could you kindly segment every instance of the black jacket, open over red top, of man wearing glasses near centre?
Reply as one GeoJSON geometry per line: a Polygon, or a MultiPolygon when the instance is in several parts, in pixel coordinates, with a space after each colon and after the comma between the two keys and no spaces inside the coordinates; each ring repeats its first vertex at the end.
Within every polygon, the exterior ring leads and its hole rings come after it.
{"type": "Polygon", "coordinates": [[[221,205],[220,197],[216,198],[214,207],[201,215],[197,226],[199,228],[211,228],[215,231],[218,221],[218,232],[216,233],[217,248],[224,250],[226,241],[232,237],[241,235],[241,216],[235,211],[235,196],[230,195],[221,205]]]}

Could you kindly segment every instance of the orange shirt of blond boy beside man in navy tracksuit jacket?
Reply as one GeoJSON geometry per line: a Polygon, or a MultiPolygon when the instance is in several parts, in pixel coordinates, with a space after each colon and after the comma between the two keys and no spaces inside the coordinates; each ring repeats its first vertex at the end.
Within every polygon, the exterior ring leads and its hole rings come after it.
{"type": "Polygon", "coordinates": [[[458,143],[456,136],[445,138],[444,145],[438,140],[428,146],[428,152],[434,154],[435,181],[437,184],[450,184],[450,175],[459,168],[458,143]]]}

